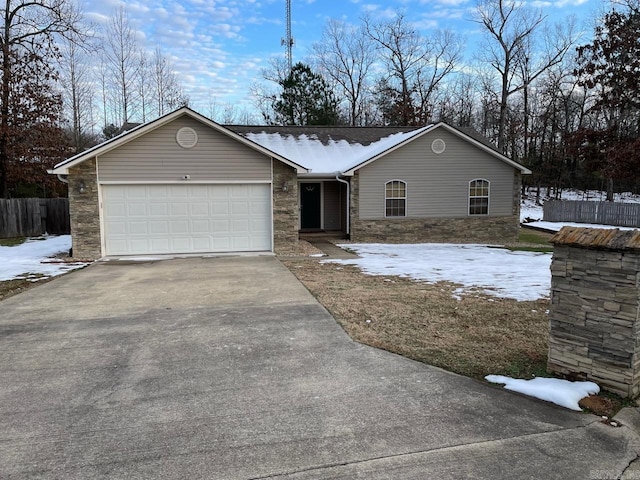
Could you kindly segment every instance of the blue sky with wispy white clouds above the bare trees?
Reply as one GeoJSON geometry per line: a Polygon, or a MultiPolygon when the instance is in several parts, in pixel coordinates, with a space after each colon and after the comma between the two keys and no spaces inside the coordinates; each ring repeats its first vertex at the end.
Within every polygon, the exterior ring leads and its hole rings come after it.
{"type": "MultiPolygon", "coordinates": [[[[171,59],[186,87],[191,106],[207,115],[210,98],[219,105],[253,109],[250,85],[260,80],[269,58],[284,55],[285,0],[80,0],[85,16],[104,24],[121,4],[141,45],[149,51],[160,46],[171,59]]],[[[357,24],[364,13],[374,19],[392,18],[404,10],[416,29],[450,29],[466,38],[467,59],[480,41],[471,21],[476,0],[292,0],[293,59],[308,58],[328,18],[357,24]]],[[[562,22],[574,14],[586,35],[592,31],[602,0],[535,0],[549,20],[562,22]]]]}

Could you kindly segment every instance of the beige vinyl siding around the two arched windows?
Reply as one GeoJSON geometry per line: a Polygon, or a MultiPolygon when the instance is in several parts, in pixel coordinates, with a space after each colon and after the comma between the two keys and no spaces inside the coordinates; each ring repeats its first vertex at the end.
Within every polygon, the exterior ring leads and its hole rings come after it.
{"type": "Polygon", "coordinates": [[[407,183],[407,217],[468,216],[469,182],[490,182],[489,215],[512,214],[513,167],[482,149],[436,129],[360,169],[359,218],[373,220],[385,215],[385,183],[407,183]],[[442,138],[446,150],[436,155],[431,142],[442,138]]]}

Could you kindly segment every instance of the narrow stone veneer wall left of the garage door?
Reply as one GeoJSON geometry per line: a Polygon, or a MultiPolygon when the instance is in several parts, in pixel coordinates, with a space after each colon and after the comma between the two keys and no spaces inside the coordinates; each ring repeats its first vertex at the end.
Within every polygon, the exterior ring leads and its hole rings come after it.
{"type": "Polygon", "coordinates": [[[95,260],[102,256],[95,159],[69,169],[68,178],[73,257],[95,260]]]}

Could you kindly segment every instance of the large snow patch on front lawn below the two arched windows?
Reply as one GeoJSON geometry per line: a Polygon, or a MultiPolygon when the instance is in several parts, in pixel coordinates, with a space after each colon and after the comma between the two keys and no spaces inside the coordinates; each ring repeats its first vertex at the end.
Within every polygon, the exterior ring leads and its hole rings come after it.
{"type": "Polygon", "coordinates": [[[422,243],[346,244],[361,258],[325,260],[356,265],[369,275],[398,275],[426,282],[462,285],[456,295],[481,291],[519,301],[548,298],[551,254],[512,252],[489,245],[422,243]]]}

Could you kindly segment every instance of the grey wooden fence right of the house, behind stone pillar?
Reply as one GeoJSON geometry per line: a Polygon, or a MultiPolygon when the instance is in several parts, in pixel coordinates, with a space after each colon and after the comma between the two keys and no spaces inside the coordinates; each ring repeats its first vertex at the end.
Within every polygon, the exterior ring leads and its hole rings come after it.
{"type": "Polygon", "coordinates": [[[544,202],[543,220],[640,227],[640,203],[549,200],[544,202]]]}

